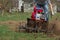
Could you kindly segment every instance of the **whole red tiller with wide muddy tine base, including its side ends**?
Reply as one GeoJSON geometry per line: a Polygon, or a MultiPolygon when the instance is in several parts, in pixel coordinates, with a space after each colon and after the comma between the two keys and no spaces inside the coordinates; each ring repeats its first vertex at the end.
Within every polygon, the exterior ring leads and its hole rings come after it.
{"type": "Polygon", "coordinates": [[[27,18],[25,25],[19,26],[19,32],[54,32],[55,24],[49,24],[49,21],[45,21],[44,9],[42,7],[37,8],[34,6],[31,18],[27,18]]]}

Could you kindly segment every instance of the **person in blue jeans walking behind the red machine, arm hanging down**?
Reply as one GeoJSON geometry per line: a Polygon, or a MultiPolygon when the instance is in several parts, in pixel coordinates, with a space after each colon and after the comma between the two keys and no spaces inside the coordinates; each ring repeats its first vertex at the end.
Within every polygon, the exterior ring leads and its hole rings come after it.
{"type": "Polygon", "coordinates": [[[43,7],[44,9],[44,15],[45,15],[45,21],[48,21],[49,17],[49,7],[52,12],[52,15],[54,15],[52,4],[50,0],[34,0],[34,5],[39,9],[39,7],[43,7]]]}

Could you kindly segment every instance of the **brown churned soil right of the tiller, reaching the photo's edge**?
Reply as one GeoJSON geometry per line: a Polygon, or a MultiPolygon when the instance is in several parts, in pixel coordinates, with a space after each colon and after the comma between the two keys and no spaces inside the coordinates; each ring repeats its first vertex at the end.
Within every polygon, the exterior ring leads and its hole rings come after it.
{"type": "Polygon", "coordinates": [[[51,31],[56,35],[60,35],[60,20],[53,20],[49,22],[48,31],[51,31]]]}

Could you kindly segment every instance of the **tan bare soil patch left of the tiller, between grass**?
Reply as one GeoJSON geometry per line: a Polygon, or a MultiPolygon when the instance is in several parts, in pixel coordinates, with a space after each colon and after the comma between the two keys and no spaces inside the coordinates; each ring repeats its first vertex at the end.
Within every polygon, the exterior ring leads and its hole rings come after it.
{"type": "Polygon", "coordinates": [[[11,31],[17,31],[18,30],[18,26],[20,25],[25,25],[26,21],[4,21],[4,22],[0,22],[1,25],[8,25],[8,28],[11,31]]]}

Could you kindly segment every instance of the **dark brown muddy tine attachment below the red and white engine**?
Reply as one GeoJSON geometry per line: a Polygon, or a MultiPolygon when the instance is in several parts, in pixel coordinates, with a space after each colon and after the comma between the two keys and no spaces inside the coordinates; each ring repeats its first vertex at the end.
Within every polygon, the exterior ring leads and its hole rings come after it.
{"type": "Polygon", "coordinates": [[[47,26],[47,21],[38,21],[27,18],[27,23],[24,26],[19,26],[19,32],[47,32],[47,26]]]}

